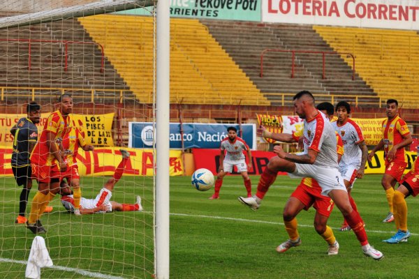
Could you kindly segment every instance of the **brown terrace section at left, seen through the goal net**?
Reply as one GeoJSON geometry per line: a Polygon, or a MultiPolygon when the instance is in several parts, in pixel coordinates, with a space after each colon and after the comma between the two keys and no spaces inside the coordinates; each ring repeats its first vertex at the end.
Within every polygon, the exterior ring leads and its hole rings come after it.
{"type": "Polygon", "coordinates": [[[115,96],[119,99],[121,94],[125,99],[133,98],[106,57],[102,69],[98,45],[77,20],[3,29],[0,53],[3,102],[50,100],[64,90],[73,93],[75,102],[89,102],[94,97],[96,103],[106,103],[108,99],[114,103],[115,96]],[[30,47],[28,40],[31,40],[30,47]],[[66,47],[63,40],[72,43],[66,47]]]}

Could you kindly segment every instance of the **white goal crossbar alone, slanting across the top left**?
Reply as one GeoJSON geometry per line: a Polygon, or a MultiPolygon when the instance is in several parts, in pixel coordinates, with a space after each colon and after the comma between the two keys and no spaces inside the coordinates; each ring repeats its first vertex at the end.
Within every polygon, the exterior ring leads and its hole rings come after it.
{"type": "Polygon", "coordinates": [[[71,17],[86,17],[103,13],[115,13],[121,10],[144,8],[154,6],[155,2],[156,0],[102,0],[78,6],[57,8],[24,15],[14,15],[0,18],[0,29],[53,22],[56,20],[66,20],[71,17]]]}

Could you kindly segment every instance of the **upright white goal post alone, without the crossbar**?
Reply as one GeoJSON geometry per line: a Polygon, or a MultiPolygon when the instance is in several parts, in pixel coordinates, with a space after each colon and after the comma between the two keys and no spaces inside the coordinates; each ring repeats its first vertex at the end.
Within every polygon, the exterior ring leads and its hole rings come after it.
{"type": "Polygon", "coordinates": [[[157,1],[156,278],[169,278],[170,1],[157,1]]]}

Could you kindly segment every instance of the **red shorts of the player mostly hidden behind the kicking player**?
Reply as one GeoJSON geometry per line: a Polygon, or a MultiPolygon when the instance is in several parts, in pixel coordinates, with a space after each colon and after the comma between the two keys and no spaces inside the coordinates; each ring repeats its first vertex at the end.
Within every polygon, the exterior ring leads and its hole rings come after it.
{"type": "Polygon", "coordinates": [[[300,183],[299,186],[291,194],[291,197],[299,199],[305,205],[305,210],[308,210],[311,206],[316,209],[318,213],[323,216],[329,217],[332,212],[335,203],[330,199],[321,195],[320,187],[309,187],[304,183],[300,183]]]}

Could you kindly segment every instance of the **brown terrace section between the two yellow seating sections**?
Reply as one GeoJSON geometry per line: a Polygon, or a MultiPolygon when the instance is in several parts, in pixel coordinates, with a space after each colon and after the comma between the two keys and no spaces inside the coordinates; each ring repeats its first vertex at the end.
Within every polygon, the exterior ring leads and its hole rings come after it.
{"type": "MultiPolygon", "coordinates": [[[[214,38],[227,50],[240,68],[251,77],[258,89],[272,100],[272,104],[281,98],[273,93],[290,93],[288,98],[291,98],[301,89],[316,94],[358,95],[367,98],[371,96],[371,102],[377,103],[374,91],[358,75],[352,80],[351,67],[338,54],[326,54],[325,79],[323,79],[322,54],[296,53],[295,73],[294,77],[290,78],[291,53],[269,52],[265,54],[263,77],[260,77],[260,54],[263,50],[333,51],[309,25],[223,20],[201,20],[201,22],[210,29],[214,38]]],[[[365,103],[370,101],[367,98],[365,103]]]]}

